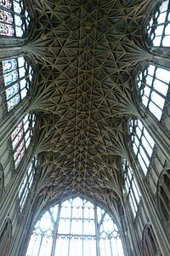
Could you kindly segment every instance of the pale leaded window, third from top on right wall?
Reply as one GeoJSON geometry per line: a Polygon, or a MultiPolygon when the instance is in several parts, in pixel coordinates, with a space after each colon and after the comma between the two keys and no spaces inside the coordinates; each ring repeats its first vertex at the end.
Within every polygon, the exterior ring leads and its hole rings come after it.
{"type": "Polygon", "coordinates": [[[139,160],[144,175],[146,175],[148,167],[150,166],[155,142],[139,119],[130,121],[129,130],[133,143],[133,152],[139,160]]]}

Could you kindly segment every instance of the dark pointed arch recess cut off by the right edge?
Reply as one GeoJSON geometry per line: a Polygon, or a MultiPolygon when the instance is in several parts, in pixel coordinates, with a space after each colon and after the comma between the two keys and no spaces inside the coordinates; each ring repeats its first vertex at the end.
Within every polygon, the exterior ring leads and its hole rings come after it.
{"type": "Polygon", "coordinates": [[[170,167],[161,172],[157,183],[157,202],[161,217],[164,218],[170,230],[170,167]]]}

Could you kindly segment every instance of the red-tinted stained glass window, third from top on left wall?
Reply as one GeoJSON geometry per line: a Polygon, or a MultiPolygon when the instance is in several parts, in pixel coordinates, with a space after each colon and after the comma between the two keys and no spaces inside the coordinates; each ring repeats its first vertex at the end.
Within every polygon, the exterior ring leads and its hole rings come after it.
{"type": "Polygon", "coordinates": [[[30,144],[34,125],[35,115],[27,113],[11,135],[15,168],[20,164],[20,160],[23,158],[26,148],[30,144]]]}

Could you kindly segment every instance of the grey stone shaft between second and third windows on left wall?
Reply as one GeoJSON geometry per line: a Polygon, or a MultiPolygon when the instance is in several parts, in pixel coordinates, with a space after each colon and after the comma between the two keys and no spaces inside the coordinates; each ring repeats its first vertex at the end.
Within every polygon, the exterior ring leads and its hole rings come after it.
{"type": "Polygon", "coordinates": [[[16,127],[16,125],[20,123],[20,120],[24,118],[28,102],[29,100],[25,99],[0,121],[0,148],[3,143],[8,140],[8,137],[11,135],[14,127],[16,127]]]}

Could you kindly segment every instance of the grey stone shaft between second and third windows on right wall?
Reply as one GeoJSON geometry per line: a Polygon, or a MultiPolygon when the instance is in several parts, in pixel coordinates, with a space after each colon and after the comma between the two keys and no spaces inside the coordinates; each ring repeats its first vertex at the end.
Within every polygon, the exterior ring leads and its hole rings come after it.
{"type": "Polygon", "coordinates": [[[149,111],[146,112],[142,105],[141,108],[145,115],[145,117],[141,119],[144,123],[144,127],[150,132],[150,136],[153,137],[156,146],[161,149],[165,158],[170,163],[170,133],[163,128],[161,123],[156,120],[149,111]]]}

